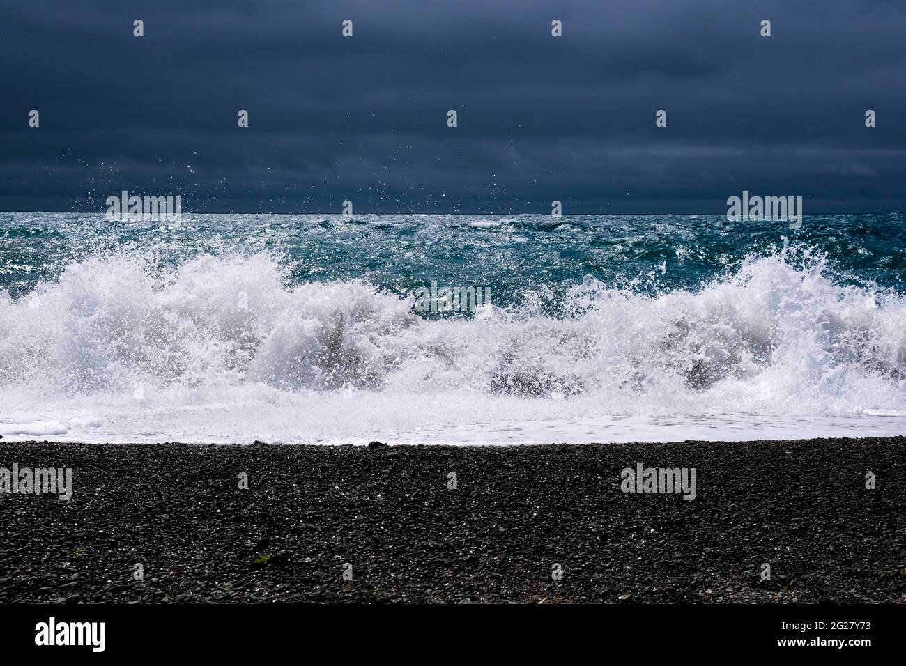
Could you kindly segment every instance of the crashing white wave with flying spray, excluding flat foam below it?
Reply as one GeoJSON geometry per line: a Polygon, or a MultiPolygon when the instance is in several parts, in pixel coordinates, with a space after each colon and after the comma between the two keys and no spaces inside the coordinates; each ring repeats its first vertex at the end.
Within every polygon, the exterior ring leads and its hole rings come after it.
{"type": "Polygon", "coordinates": [[[529,302],[429,320],[364,280],[293,285],[266,254],[171,269],[94,256],[32,294],[0,294],[0,387],[178,387],[198,401],[249,385],[503,394],[614,413],[906,409],[903,298],[834,282],[821,261],[752,258],[694,292],[589,278],[564,298],[563,317],[529,302]]]}

